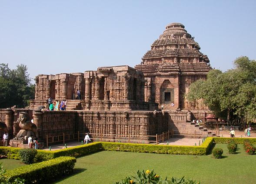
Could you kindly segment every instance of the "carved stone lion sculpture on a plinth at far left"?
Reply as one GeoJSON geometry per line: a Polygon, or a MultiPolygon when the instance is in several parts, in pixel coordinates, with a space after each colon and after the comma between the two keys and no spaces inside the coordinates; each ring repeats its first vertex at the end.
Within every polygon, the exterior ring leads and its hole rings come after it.
{"type": "Polygon", "coordinates": [[[29,116],[25,112],[20,112],[19,118],[16,123],[19,123],[20,131],[14,140],[27,140],[30,136],[38,138],[37,126],[29,120],[29,116]]]}

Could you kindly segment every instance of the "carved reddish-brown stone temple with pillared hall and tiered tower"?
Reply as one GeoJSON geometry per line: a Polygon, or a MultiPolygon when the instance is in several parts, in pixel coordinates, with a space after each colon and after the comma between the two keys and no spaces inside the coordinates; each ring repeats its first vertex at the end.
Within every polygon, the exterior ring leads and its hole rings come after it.
{"type": "Polygon", "coordinates": [[[129,135],[129,140],[137,142],[153,139],[140,136],[170,131],[213,136],[203,127],[190,124],[194,118],[204,121],[211,111],[202,100],[186,100],[190,84],[205,79],[212,69],[208,57],[199,50],[183,24],[168,24],[135,68],[107,66],[84,73],[37,75],[30,109],[0,110],[0,121],[15,137],[19,113],[26,111],[34,119],[42,142],[49,137],[61,141],[64,134],[77,140],[77,132],[101,134],[101,139],[111,140],[129,135]],[[73,89],[81,91],[80,100],[73,100],[73,89]],[[49,97],[67,100],[67,110],[37,110],[46,106],[49,97]]]}

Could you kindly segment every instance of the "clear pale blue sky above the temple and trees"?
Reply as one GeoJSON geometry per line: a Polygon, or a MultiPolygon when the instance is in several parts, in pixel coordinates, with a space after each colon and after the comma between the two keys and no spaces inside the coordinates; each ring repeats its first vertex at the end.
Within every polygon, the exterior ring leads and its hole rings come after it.
{"type": "Polygon", "coordinates": [[[134,67],[174,22],[213,68],[256,59],[256,0],[0,0],[0,63],[23,63],[33,78],[134,67]]]}

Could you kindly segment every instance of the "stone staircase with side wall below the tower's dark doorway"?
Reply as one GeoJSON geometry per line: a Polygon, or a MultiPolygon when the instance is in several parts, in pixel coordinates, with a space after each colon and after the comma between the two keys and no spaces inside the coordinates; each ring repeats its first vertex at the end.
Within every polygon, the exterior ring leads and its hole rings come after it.
{"type": "Polygon", "coordinates": [[[174,123],[174,135],[183,137],[214,137],[215,133],[195,123],[174,123]]]}

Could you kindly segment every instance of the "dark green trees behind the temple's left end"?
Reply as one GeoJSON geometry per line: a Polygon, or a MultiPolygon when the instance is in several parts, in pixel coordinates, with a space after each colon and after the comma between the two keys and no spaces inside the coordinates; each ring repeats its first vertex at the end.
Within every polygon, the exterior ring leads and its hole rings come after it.
{"type": "Polygon", "coordinates": [[[29,100],[34,98],[35,86],[26,65],[17,65],[10,69],[8,64],[0,64],[0,108],[17,105],[19,108],[29,105],[29,100]]]}

